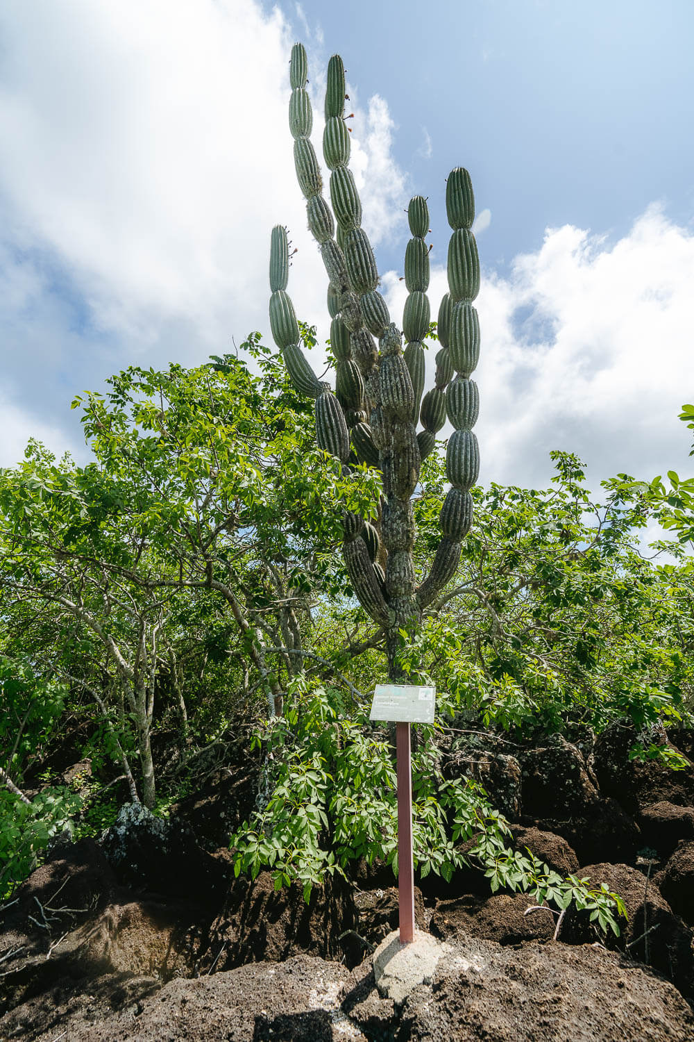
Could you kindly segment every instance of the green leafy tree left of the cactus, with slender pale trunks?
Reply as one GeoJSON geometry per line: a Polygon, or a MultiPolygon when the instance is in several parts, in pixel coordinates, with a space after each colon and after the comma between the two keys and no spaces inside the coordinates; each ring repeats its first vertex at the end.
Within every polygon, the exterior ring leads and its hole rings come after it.
{"type": "Polygon", "coordinates": [[[95,463],[56,461],[31,443],[19,467],[0,472],[0,584],[15,629],[33,635],[45,669],[57,665],[97,700],[113,741],[134,729],[150,807],[162,685],[187,728],[188,620],[204,630],[208,659],[236,660],[248,695],[259,689],[268,712],[281,712],[283,683],[311,654],[317,593],[344,587],[326,567],[340,538],[326,504],[368,513],[378,499],[372,474],[348,488],[339,465],[325,467],[283,369],[257,336],[246,346],[259,376],[232,356],[129,369],[107,395],[77,399],[95,463]]]}

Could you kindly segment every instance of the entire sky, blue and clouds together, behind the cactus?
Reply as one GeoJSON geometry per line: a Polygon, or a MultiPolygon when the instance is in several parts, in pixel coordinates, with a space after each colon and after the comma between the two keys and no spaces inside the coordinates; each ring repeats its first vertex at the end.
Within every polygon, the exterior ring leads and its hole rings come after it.
{"type": "Polygon", "coordinates": [[[686,472],[693,29],[689,0],[352,0],[349,15],[317,0],[7,0],[0,464],[31,435],[83,455],[69,401],[119,368],[269,337],[279,221],[300,248],[297,311],[327,334],[286,123],[301,39],[316,110],[330,54],[344,58],[353,169],[395,317],[409,196],[429,196],[435,314],[444,179],[472,174],[482,479],[546,482],[551,448],[583,455],[595,483],[686,472]]]}

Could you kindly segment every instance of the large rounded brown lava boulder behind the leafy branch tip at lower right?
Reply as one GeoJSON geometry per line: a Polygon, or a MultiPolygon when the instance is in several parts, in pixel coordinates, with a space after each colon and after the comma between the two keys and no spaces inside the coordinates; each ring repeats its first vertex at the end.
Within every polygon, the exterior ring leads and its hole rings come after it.
{"type": "Polygon", "coordinates": [[[588,912],[572,912],[562,928],[562,940],[586,943],[599,940],[609,948],[628,951],[633,959],[647,962],[669,977],[683,994],[691,996],[694,989],[694,952],[692,931],[673,914],[657,886],[657,879],[627,865],[587,865],[577,872],[588,876],[590,887],[607,884],[619,894],[626,907],[627,921],[619,920],[620,937],[610,931],[598,934],[589,920],[588,912]],[[644,937],[648,931],[647,937],[644,937]],[[647,958],[646,958],[647,957],[647,958]]]}

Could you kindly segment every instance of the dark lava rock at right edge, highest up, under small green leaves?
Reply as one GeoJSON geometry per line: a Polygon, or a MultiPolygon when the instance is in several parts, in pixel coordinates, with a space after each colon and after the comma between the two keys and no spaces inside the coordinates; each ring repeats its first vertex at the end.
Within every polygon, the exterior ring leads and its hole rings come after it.
{"type": "Polygon", "coordinates": [[[637,741],[645,747],[653,744],[674,748],[662,724],[654,724],[641,735],[623,721],[610,724],[597,736],[593,752],[593,770],[600,791],[614,796],[629,814],[663,800],[677,807],[694,805],[692,762],[688,761],[687,769],[673,771],[659,760],[629,760],[629,750],[637,741]]]}

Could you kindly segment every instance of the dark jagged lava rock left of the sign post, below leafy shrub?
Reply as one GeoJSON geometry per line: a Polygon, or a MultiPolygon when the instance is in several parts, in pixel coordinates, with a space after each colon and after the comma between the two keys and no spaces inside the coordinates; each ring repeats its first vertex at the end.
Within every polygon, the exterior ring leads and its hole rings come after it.
{"type": "Polygon", "coordinates": [[[308,904],[298,885],[275,889],[272,872],[239,877],[209,929],[203,968],[281,962],[299,952],[326,959],[343,954],[340,936],[358,929],[352,888],[341,876],[313,887],[308,904]]]}

